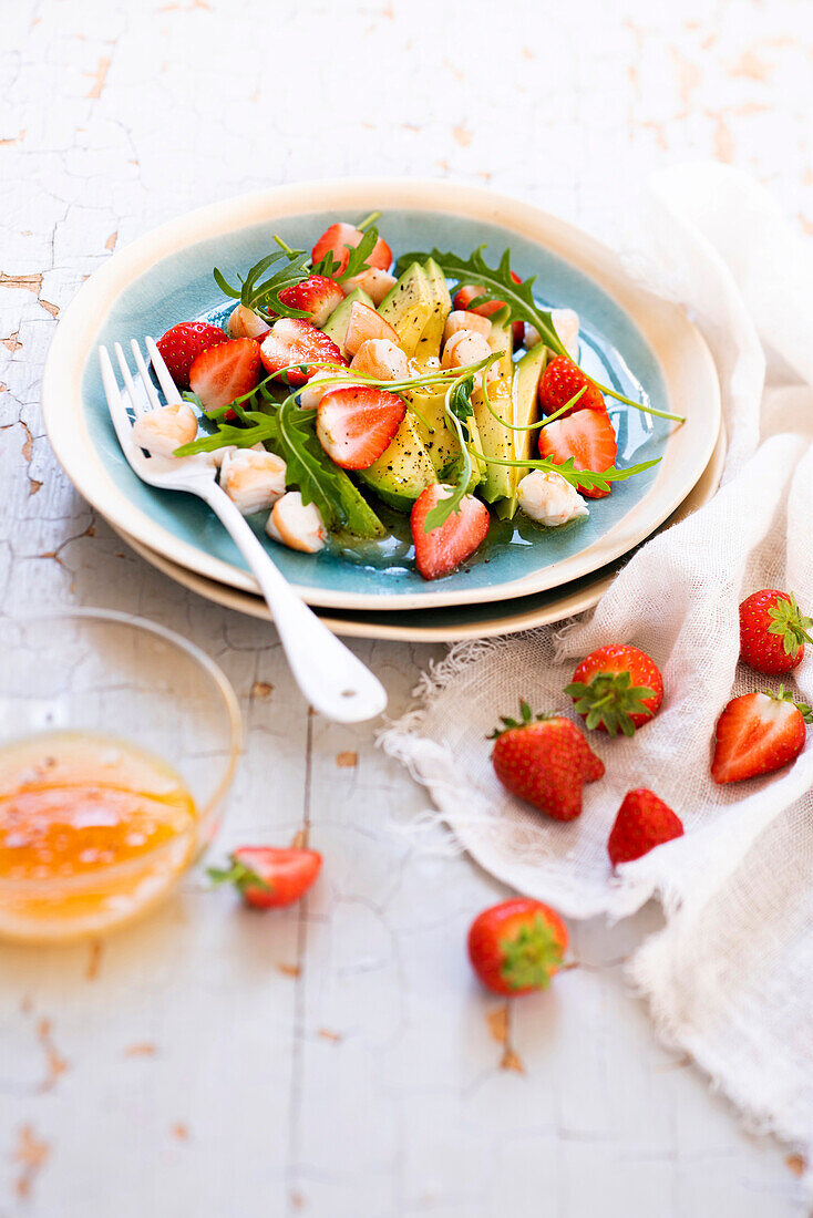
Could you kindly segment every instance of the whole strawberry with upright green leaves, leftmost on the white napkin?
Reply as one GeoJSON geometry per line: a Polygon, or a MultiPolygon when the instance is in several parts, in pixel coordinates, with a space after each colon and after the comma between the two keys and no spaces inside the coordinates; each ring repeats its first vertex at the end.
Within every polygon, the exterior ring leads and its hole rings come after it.
{"type": "Polygon", "coordinates": [[[603,761],[569,719],[534,716],[527,702],[520,710],[519,722],[503,717],[490,737],[494,772],[512,795],[556,821],[572,821],[581,812],[585,782],[603,777],[603,761]]]}

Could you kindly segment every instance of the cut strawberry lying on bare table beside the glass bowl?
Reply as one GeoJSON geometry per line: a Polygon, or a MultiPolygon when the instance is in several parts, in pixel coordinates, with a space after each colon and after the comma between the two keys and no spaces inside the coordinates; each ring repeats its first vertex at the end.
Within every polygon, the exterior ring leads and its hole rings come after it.
{"type": "Polygon", "coordinates": [[[246,905],[275,909],[293,905],[314,883],[322,855],[300,847],[243,845],[229,855],[227,868],[210,867],[215,884],[234,884],[246,905]]]}

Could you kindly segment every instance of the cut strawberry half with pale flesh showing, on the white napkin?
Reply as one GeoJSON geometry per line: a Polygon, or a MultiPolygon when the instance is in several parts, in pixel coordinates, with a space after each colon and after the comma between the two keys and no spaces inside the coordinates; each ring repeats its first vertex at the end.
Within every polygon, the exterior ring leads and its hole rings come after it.
{"type": "Polygon", "coordinates": [[[717,721],[714,782],[742,782],[773,773],[795,761],[804,748],[811,708],[779,694],[745,693],[733,698],[717,721]]]}

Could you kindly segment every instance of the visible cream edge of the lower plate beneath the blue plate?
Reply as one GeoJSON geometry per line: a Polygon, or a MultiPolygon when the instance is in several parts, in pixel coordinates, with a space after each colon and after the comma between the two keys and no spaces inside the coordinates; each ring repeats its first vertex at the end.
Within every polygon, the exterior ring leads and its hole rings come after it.
{"type": "MultiPolygon", "coordinates": [[[[725,425],[723,424],[708,465],[684,502],[673,513],[675,516],[675,520],[672,521],[673,524],[678,524],[694,512],[697,512],[705,504],[709,503],[717,495],[723,476],[723,466],[725,464],[726,438],[725,425]],[[706,486],[703,486],[702,491],[700,491],[701,497],[698,502],[687,505],[689,501],[698,495],[698,487],[703,482],[706,482],[706,486]]],[[[650,536],[653,537],[657,532],[662,531],[664,525],[670,527],[669,520],[659,525],[658,529],[656,529],[650,536]]],[[[162,555],[156,554],[137,538],[117,530],[115,525],[111,527],[115,529],[122,541],[124,541],[137,554],[139,554],[145,563],[149,563],[150,566],[161,571],[161,574],[166,575],[167,579],[173,580],[176,583],[179,583],[182,587],[188,588],[190,592],[194,592],[196,596],[202,597],[212,604],[221,605],[233,613],[245,614],[246,616],[255,618],[258,621],[266,621],[269,625],[273,624],[271,613],[262,597],[255,596],[250,592],[241,592],[213,580],[206,580],[204,576],[199,576],[194,571],[178,566],[162,555]]],[[[619,560],[617,560],[617,563],[618,561],[619,560]]],[[[539,613],[529,610],[522,619],[512,620],[512,624],[507,630],[499,628],[501,624],[500,619],[495,619],[491,622],[473,622],[468,626],[456,627],[423,626],[419,627],[418,632],[416,632],[416,627],[410,627],[408,625],[349,621],[345,618],[332,616],[330,613],[324,611],[319,611],[318,616],[334,635],[340,635],[344,638],[375,638],[385,642],[425,643],[429,646],[430,643],[455,643],[463,639],[496,638],[500,636],[505,637],[507,635],[520,633],[524,630],[534,630],[539,626],[563,621],[566,618],[572,618],[575,614],[585,613],[585,610],[592,609],[605,592],[608,591],[613,580],[618,575],[618,571],[619,568],[617,566],[613,571],[598,575],[598,577],[586,587],[581,587],[569,594],[566,594],[563,598],[546,605],[539,613]]],[[[389,614],[384,614],[384,616],[389,616],[389,614]]]]}

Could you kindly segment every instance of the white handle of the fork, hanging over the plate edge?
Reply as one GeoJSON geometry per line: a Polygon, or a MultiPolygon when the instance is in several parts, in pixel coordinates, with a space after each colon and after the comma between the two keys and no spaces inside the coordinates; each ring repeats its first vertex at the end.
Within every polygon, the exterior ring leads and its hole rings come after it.
{"type": "Polygon", "coordinates": [[[300,600],[228,495],[217,484],[199,493],[219,516],[254,571],[291,672],[310,704],[340,723],[380,715],[386,706],[386,691],[378,677],[300,600]]]}

